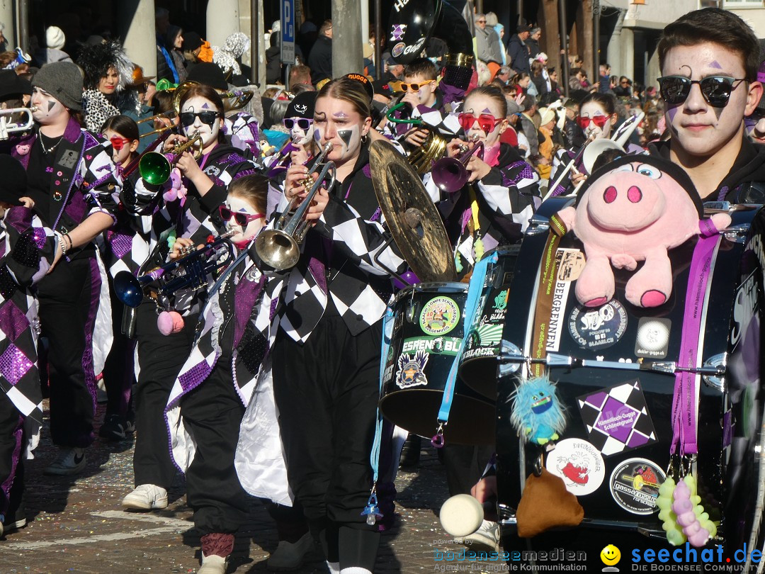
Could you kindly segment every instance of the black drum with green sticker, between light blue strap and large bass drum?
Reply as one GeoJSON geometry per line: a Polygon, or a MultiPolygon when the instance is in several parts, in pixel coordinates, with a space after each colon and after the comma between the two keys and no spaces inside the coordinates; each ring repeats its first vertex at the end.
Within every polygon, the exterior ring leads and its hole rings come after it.
{"type": "Polygon", "coordinates": [[[519,245],[503,246],[484,255],[490,257],[496,253],[497,261],[487,269],[478,311],[460,360],[461,379],[471,389],[493,401],[496,400],[496,360],[500,356],[510,283],[519,249],[519,245]]]}

